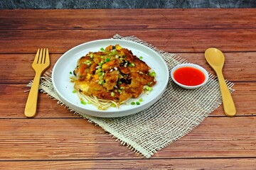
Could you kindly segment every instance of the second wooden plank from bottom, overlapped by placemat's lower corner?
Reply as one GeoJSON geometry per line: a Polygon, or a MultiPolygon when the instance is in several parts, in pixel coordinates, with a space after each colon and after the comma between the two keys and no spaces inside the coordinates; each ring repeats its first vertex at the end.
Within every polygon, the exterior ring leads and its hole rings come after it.
{"type": "MultiPolygon", "coordinates": [[[[0,125],[0,160],[139,157],[100,127],[82,118],[0,119],[0,125]]],[[[151,159],[255,157],[255,141],[254,116],[209,117],[151,159]]]]}

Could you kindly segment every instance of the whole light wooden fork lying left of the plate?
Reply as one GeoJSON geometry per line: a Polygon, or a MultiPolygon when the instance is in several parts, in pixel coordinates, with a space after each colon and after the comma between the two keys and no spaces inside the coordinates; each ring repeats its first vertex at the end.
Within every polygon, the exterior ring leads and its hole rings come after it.
{"type": "Polygon", "coordinates": [[[36,106],[38,99],[38,88],[40,83],[41,74],[50,66],[50,57],[48,48],[36,52],[35,60],[33,61],[32,68],[35,70],[36,75],[33,79],[31,91],[28,94],[28,100],[25,107],[25,115],[28,118],[33,118],[36,115],[36,106]]]}

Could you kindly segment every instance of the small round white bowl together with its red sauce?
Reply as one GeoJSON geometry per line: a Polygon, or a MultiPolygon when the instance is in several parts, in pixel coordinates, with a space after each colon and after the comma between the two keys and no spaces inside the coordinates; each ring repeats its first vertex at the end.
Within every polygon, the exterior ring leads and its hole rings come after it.
{"type": "Polygon", "coordinates": [[[184,89],[196,89],[207,83],[208,72],[197,64],[178,64],[171,69],[171,79],[184,89]]]}

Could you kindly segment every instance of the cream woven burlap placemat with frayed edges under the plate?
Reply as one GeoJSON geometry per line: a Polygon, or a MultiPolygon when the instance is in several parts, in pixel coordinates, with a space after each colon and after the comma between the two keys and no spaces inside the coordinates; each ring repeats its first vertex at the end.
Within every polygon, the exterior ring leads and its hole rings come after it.
{"type": "MultiPolygon", "coordinates": [[[[169,72],[177,64],[187,61],[178,55],[157,49],[134,36],[122,37],[114,35],[114,39],[131,40],[139,42],[161,55],[169,67],[169,72]]],[[[228,82],[232,93],[233,83],[228,82]]],[[[53,89],[51,75],[43,77],[41,90],[65,105],[53,89]]],[[[126,145],[134,152],[149,158],[160,149],[170,145],[193,128],[199,125],[211,112],[220,106],[218,79],[210,74],[208,83],[195,90],[182,89],[169,78],[169,84],[163,96],[150,108],[134,115],[121,118],[97,118],[90,115],[74,112],[95,123],[115,137],[122,145],[126,145]]],[[[72,111],[72,109],[70,109],[72,111]]]]}

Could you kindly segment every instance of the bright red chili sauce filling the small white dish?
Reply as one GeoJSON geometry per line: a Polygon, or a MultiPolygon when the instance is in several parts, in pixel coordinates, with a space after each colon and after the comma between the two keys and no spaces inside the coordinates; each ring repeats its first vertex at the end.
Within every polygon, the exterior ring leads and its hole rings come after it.
{"type": "Polygon", "coordinates": [[[206,77],[201,70],[193,67],[181,67],[174,72],[174,79],[186,86],[197,86],[205,81],[206,77]]]}

